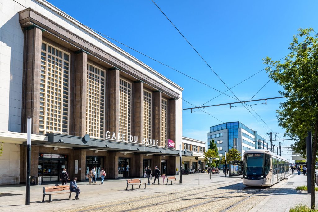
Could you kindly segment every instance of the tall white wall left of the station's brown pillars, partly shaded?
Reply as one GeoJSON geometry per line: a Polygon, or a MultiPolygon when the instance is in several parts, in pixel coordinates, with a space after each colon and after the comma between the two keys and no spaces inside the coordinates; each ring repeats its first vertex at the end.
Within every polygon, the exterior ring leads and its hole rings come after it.
{"type": "Polygon", "coordinates": [[[0,130],[21,132],[23,31],[14,1],[0,0],[0,130]]]}

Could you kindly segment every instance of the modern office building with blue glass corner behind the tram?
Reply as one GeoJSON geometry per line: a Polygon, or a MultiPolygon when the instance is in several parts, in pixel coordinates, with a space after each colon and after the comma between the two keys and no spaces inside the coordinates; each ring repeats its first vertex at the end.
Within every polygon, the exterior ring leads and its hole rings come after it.
{"type": "Polygon", "coordinates": [[[239,121],[227,122],[210,127],[208,132],[208,148],[210,141],[214,140],[218,147],[218,156],[222,157],[225,151],[235,148],[242,153],[249,149],[267,149],[267,143],[257,131],[246,127],[239,121]]]}

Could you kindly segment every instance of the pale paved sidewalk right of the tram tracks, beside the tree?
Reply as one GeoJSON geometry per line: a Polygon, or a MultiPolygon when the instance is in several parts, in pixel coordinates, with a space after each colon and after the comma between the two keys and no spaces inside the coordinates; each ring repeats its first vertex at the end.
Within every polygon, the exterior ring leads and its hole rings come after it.
{"type": "MultiPolygon", "coordinates": [[[[278,183],[279,184],[279,183],[278,183]]],[[[310,194],[307,191],[295,190],[297,186],[307,185],[307,176],[297,172],[290,175],[287,181],[273,189],[267,197],[254,206],[250,212],[264,211],[289,211],[295,205],[301,203],[310,207],[310,194]]],[[[316,193],[316,203],[318,202],[318,193],[316,193]]]]}

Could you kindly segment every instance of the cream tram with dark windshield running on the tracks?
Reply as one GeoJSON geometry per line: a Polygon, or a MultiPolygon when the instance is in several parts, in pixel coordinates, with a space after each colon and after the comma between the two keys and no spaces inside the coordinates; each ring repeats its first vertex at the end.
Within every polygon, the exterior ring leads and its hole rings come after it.
{"type": "Polygon", "coordinates": [[[289,163],[266,149],[246,150],[243,157],[243,184],[271,186],[289,175],[289,163]]]}

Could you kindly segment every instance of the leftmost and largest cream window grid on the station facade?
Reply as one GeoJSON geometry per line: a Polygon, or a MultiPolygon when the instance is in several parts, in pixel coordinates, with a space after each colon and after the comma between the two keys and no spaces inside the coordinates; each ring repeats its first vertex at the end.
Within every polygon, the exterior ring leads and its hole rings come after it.
{"type": "Polygon", "coordinates": [[[39,134],[68,134],[70,55],[42,42],[39,134]]]}

